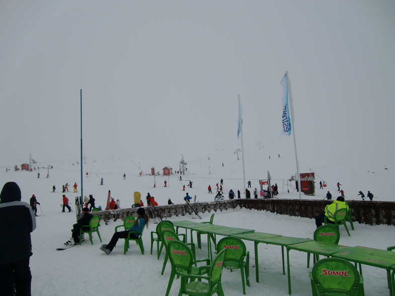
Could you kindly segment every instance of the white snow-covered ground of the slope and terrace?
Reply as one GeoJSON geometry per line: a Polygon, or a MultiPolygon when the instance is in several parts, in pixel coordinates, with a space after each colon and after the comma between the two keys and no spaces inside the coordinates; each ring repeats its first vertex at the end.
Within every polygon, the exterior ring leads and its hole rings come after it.
{"type": "MultiPolygon", "coordinates": [[[[273,178],[279,185],[279,198],[298,198],[298,194],[290,188],[290,194],[287,193],[287,187],[284,187],[281,179],[290,177],[292,170],[288,171],[286,165],[282,164],[282,158],[277,158],[278,165],[271,170],[273,178]],[[286,173],[281,173],[280,169],[284,167],[286,173]],[[291,173],[290,173],[291,172],[291,173]]],[[[199,164],[190,165],[190,173],[183,175],[183,181],[180,182],[176,176],[165,178],[164,176],[156,177],[156,188],[153,188],[154,177],[139,177],[138,168],[131,172],[130,166],[126,166],[123,161],[102,161],[90,162],[84,166],[84,195],[93,194],[96,199],[96,206],[105,206],[108,190],[115,199],[120,199],[121,208],[130,207],[133,203],[133,192],[140,191],[143,201],[147,192],[155,196],[160,205],[166,204],[167,199],[171,198],[174,203],[182,203],[185,192],[182,191],[182,183],[187,184],[185,180],[192,180],[192,189],[186,189],[189,195],[197,196],[199,201],[211,201],[215,194],[207,193],[207,186],[210,184],[213,189],[215,184],[224,179],[225,193],[229,189],[237,191],[242,188],[242,171],[240,170],[241,161],[228,161],[225,167],[222,167],[223,158],[214,158],[210,161],[211,168],[208,170],[199,170],[199,164]],[[88,178],[86,172],[89,172],[88,178]],[[126,172],[126,180],[123,180],[123,173],[126,172]],[[101,186],[100,178],[104,179],[104,185],[101,186]],[[163,187],[164,180],[168,181],[169,187],[163,187]]],[[[257,187],[257,179],[265,178],[266,171],[255,166],[256,163],[262,163],[254,157],[254,161],[246,161],[247,178],[251,177],[252,189],[257,187]],[[253,177],[253,178],[252,178],[253,177]]],[[[378,167],[379,165],[377,165],[378,167]]],[[[173,166],[175,167],[175,166],[173,166]]],[[[366,194],[369,187],[370,178],[377,177],[375,182],[381,182],[381,193],[371,191],[379,198],[375,200],[391,200],[389,191],[385,184],[390,182],[390,170],[381,169],[377,173],[370,174],[360,173],[358,176],[352,171],[346,169],[348,164],[336,164],[336,170],[331,170],[331,164],[327,163],[322,167],[319,164],[312,168],[313,171],[323,177],[328,183],[328,190],[331,190],[334,197],[337,196],[335,176],[341,178],[340,182],[346,191],[346,199],[356,199],[357,190],[363,190],[366,194]],[[341,174],[337,175],[339,172],[341,174]],[[353,176],[354,175],[354,176],[353,176]],[[363,177],[366,176],[366,179],[363,177]],[[348,197],[347,192],[350,192],[348,197]],[[352,192],[352,193],[351,193],[352,192]],[[387,194],[385,194],[387,192],[387,194]]],[[[390,166],[389,166],[390,167],[390,166]]],[[[353,168],[356,168],[353,166],[353,168]]],[[[168,265],[165,274],[160,275],[163,256],[160,260],[156,256],[150,255],[150,232],[155,231],[156,225],[151,224],[143,236],[146,254],[143,256],[137,246],[133,245],[126,255],[123,255],[122,248],[117,247],[107,256],[99,247],[101,245],[97,236],[94,237],[94,245],[85,243],[65,251],[55,251],[56,248],[69,240],[71,237],[72,225],[76,221],[75,212],[61,212],[61,185],[65,183],[79,185],[79,194],[81,189],[80,166],[74,166],[70,162],[63,164],[54,164],[54,168],[49,170],[49,178],[45,178],[47,169],[40,169],[41,177],[37,178],[37,171],[14,172],[13,170],[5,172],[2,169],[0,176],[3,182],[15,181],[22,190],[22,200],[29,202],[32,194],[37,196],[41,203],[41,209],[37,217],[37,229],[32,233],[33,256],[31,257],[31,270],[33,275],[32,294],[33,295],[68,295],[68,294],[86,294],[86,295],[112,295],[137,293],[141,295],[153,295],[165,293],[166,286],[170,275],[170,265],[168,265]],[[56,192],[52,193],[52,186],[56,186],[56,192]]],[[[148,171],[148,170],[147,170],[148,171]]],[[[158,170],[156,170],[158,171],[158,170]]],[[[248,179],[247,179],[248,180],[248,179]]],[[[317,178],[318,183],[319,178],[317,178]]],[[[380,187],[378,186],[378,187],[380,187]]],[[[318,186],[317,186],[318,187],[318,186]]],[[[379,190],[377,187],[377,190],[379,190]]],[[[186,187],[188,188],[188,187],[186,187]]],[[[69,189],[70,190],[70,189],[69,189]]],[[[317,195],[313,198],[322,199],[321,195],[326,193],[325,190],[317,190],[317,195]]],[[[71,201],[77,194],[72,192],[66,193],[71,201]]],[[[225,194],[227,195],[227,194],[225,194]]],[[[312,197],[303,197],[311,199],[312,197]]],[[[369,202],[369,201],[366,201],[369,202]]],[[[72,205],[74,208],[74,205],[72,205]]],[[[202,213],[203,220],[208,221],[212,213],[202,213]]],[[[286,215],[273,214],[265,211],[234,209],[228,211],[217,211],[215,213],[214,223],[217,225],[226,225],[230,227],[239,227],[254,229],[257,232],[276,233],[283,236],[292,236],[299,238],[311,238],[315,230],[314,221],[309,218],[292,217],[286,215]]],[[[191,219],[189,215],[171,217],[170,220],[191,219]]],[[[103,243],[108,243],[114,227],[121,225],[122,221],[110,221],[106,226],[101,224],[100,233],[103,243]]],[[[341,245],[346,246],[366,246],[380,249],[386,249],[388,246],[395,245],[393,240],[393,226],[368,226],[355,225],[355,231],[348,237],[346,231],[341,228],[341,245]]],[[[207,239],[202,237],[202,250],[198,251],[198,258],[207,257],[207,239]]],[[[122,244],[122,242],[121,242],[122,244]]],[[[286,296],[288,295],[287,276],[282,274],[281,249],[278,246],[259,244],[259,278],[260,282],[255,281],[254,252],[253,244],[246,242],[250,251],[250,283],[251,286],[246,288],[249,295],[262,294],[265,291],[268,295],[286,296]]],[[[156,252],[156,247],[154,247],[156,252]]],[[[306,253],[291,251],[291,275],[293,295],[310,294],[310,283],[306,268],[306,253]]],[[[386,273],[384,270],[363,266],[365,291],[366,295],[387,295],[386,273]]],[[[224,270],[222,277],[225,295],[241,295],[242,287],[239,271],[230,273],[224,270]]],[[[179,289],[179,280],[175,280],[171,289],[171,295],[176,295],[179,289]]]]}

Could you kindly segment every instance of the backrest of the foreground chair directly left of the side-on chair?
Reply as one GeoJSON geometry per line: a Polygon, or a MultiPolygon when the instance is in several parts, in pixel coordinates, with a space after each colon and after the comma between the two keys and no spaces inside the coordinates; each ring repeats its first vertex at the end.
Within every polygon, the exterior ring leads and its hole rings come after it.
{"type": "Polygon", "coordinates": [[[187,245],[180,241],[171,241],[167,245],[166,251],[175,270],[182,269],[184,273],[190,274],[193,255],[187,245]]]}

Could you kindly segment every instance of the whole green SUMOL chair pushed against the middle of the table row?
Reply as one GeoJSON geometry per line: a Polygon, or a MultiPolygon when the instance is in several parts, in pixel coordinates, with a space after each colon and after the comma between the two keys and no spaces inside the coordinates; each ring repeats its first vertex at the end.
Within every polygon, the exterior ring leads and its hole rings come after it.
{"type": "Polygon", "coordinates": [[[249,252],[242,240],[235,237],[222,238],[217,244],[217,253],[223,249],[227,249],[224,261],[224,267],[230,269],[240,269],[241,282],[243,285],[243,294],[245,295],[245,281],[249,286],[249,252]],[[245,274],[245,275],[244,275],[245,274]]]}

